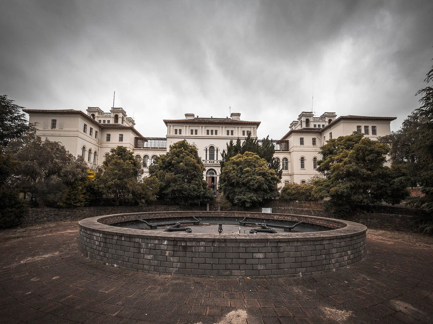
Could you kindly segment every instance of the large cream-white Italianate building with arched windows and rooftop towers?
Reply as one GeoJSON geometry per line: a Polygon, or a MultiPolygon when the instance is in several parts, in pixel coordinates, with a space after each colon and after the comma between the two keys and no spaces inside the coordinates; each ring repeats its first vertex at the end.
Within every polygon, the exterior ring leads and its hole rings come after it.
{"type": "MultiPolygon", "coordinates": [[[[143,137],[132,118],[123,108],[111,108],[103,112],[98,107],[88,107],[87,114],[74,109],[42,110],[24,109],[30,123],[37,124],[37,135],[57,141],[74,156],[84,156],[90,167],[97,167],[110,152],[122,145],[130,149],[143,163],[144,173],[153,159],[165,154],[168,147],[180,140],[187,140],[198,150],[206,168],[204,177],[208,184],[218,184],[221,152],[230,141],[249,134],[257,138],[259,121],[243,121],[239,113],[226,118],[199,118],[185,114],[184,119],[164,120],[166,137],[143,137]]],[[[275,141],[275,159],[280,162],[283,176],[281,186],[288,182],[304,183],[316,172],[320,159],[320,146],[330,138],[349,135],[353,131],[377,139],[390,133],[390,123],[395,117],[340,116],[325,112],[314,117],[313,112],[303,111],[281,140],[275,141]]]]}

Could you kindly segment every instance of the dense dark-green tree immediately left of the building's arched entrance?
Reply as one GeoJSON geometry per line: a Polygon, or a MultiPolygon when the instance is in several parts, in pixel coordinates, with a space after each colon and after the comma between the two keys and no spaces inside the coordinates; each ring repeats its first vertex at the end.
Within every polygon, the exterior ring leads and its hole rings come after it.
{"type": "Polygon", "coordinates": [[[149,174],[158,178],[159,196],[167,203],[179,205],[207,203],[212,199],[203,172],[197,149],[186,140],[170,145],[169,151],[149,166],[149,174]]]}

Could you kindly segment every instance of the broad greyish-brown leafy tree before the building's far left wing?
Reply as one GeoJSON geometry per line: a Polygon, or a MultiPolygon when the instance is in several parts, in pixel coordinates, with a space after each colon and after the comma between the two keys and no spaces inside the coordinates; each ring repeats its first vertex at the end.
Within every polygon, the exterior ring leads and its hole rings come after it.
{"type": "Polygon", "coordinates": [[[41,206],[84,204],[84,194],[74,191],[86,177],[87,165],[67,152],[65,146],[27,135],[12,140],[7,152],[13,154],[17,163],[6,181],[24,197],[29,195],[33,203],[41,206]]]}

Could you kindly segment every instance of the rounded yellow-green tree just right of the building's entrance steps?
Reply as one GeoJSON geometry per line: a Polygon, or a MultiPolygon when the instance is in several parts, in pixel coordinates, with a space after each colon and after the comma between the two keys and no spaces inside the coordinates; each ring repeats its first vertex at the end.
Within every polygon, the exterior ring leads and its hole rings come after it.
{"type": "Polygon", "coordinates": [[[221,169],[220,187],[224,197],[236,206],[258,206],[278,197],[280,179],[266,160],[253,152],[237,154],[221,169]]]}

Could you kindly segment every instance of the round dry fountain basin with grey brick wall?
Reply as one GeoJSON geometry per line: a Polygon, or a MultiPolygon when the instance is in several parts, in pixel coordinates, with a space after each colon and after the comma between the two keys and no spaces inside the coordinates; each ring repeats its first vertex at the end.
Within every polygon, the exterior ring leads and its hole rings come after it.
{"type": "Polygon", "coordinates": [[[362,224],[341,219],[276,213],[127,213],[81,220],[78,248],[92,260],[135,271],[222,278],[302,276],[362,260],[366,231],[362,224]],[[208,229],[194,231],[194,219],[208,229]],[[188,223],[192,232],[164,232],[185,225],[178,222],[188,223]],[[307,228],[304,232],[288,229],[299,222],[307,228]],[[137,223],[141,229],[119,227],[137,223]],[[246,226],[278,231],[250,233],[246,226]]]}

